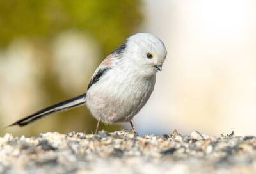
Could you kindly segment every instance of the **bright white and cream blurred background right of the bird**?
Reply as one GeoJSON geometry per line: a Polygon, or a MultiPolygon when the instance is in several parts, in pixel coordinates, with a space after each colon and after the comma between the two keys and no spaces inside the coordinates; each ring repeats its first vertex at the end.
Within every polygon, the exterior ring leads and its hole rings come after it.
{"type": "Polygon", "coordinates": [[[256,1],[145,1],[141,30],[166,44],[154,93],[136,116],[140,132],[254,134],[256,1]]]}

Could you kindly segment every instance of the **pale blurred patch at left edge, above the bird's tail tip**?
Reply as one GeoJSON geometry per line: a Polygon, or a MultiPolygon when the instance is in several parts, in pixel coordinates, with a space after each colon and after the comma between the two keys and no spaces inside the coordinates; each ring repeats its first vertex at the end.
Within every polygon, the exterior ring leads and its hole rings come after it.
{"type": "MultiPolygon", "coordinates": [[[[1,125],[26,115],[35,101],[44,95],[40,91],[40,66],[33,56],[33,45],[26,40],[15,40],[0,52],[0,116],[1,125]]],[[[37,100],[38,102],[40,100],[37,100]]]]}

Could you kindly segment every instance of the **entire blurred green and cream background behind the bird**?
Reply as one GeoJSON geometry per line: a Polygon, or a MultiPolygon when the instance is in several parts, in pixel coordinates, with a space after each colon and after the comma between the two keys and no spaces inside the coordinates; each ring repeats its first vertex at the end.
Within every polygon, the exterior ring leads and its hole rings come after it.
{"type": "MultiPolygon", "coordinates": [[[[150,32],[168,56],[154,93],[134,118],[142,134],[177,129],[254,134],[256,1],[0,0],[0,127],[86,92],[95,68],[125,38],[150,32]]],[[[1,135],[90,133],[86,107],[1,135]]],[[[124,125],[100,125],[115,131],[124,125]]]]}

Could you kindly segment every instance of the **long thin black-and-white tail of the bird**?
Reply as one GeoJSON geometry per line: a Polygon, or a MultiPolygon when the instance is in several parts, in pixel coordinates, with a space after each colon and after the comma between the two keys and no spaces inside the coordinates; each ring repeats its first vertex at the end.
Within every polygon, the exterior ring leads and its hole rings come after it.
{"type": "Polygon", "coordinates": [[[40,120],[41,118],[44,118],[47,115],[51,115],[52,113],[66,111],[68,109],[81,106],[85,103],[86,103],[86,93],[83,95],[74,97],[72,99],[66,100],[64,102],[54,104],[53,106],[46,107],[45,109],[42,109],[36,113],[33,113],[32,115],[22,118],[21,120],[18,120],[17,122],[13,123],[12,125],[9,125],[8,127],[13,125],[19,125],[20,127],[22,127],[22,126],[28,125],[29,123],[36,122],[37,120],[40,120]]]}

